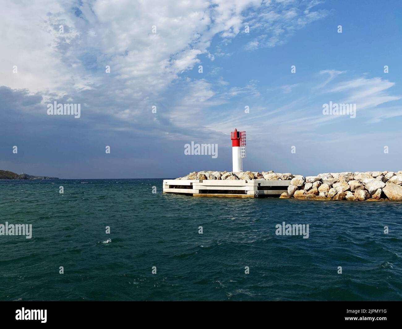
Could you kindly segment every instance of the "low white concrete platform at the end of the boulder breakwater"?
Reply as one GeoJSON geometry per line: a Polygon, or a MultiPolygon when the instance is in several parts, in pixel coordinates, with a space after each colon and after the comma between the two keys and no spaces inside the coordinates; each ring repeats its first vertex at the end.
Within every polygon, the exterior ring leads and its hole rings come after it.
{"type": "Polygon", "coordinates": [[[164,193],[192,196],[258,198],[280,196],[287,192],[290,180],[164,180],[164,193]]]}

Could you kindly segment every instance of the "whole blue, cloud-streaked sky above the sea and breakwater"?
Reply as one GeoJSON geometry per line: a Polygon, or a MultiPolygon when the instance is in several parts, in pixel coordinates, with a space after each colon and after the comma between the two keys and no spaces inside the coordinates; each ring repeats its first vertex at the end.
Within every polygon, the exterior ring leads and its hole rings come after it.
{"type": "Polygon", "coordinates": [[[402,170],[400,1],[0,8],[2,170],[77,179],[231,171],[235,128],[247,134],[244,170],[402,170]],[[49,115],[54,102],[80,104],[80,117],[49,115]],[[330,102],[355,104],[355,117],[324,115],[330,102]],[[217,144],[217,157],[186,155],[191,142],[217,144]]]}

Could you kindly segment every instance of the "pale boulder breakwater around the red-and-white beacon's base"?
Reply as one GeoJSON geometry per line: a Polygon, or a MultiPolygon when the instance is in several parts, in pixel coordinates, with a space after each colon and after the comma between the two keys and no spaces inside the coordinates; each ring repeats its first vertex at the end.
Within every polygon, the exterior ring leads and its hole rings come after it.
{"type": "Polygon", "coordinates": [[[281,198],[306,200],[402,200],[402,171],[340,172],[317,176],[269,172],[191,172],[176,180],[290,180],[281,198]]]}

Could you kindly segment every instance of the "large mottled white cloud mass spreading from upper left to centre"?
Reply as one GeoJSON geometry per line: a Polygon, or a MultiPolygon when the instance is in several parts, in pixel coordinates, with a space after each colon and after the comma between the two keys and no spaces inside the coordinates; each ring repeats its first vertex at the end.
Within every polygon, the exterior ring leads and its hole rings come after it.
{"type": "MultiPolygon", "coordinates": [[[[214,55],[231,55],[221,47],[242,33],[246,20],[253,33],[274,22],[271,39],[264,34],[259,40],[280,43],[286,37],[283,27],[299,26],[306,16],[296,5],[260,0],[174,1],[168,6],[164,0],[12,2],[4,6],[0,22],[0,63],[5,67],[0,86],[37,92],[43,103],[66,95],[70,102],[85,104],[83,120],[113,116],[110,129],[127,130],[129,124],[148,132],[172,131],[173,126],[202,129],[208,121],[197,120],[211,112],[209,107],[260,95],[253,82],[229,87],[223,78],[215,84],[186,82],[180,74],[198,65],[201,54],[211,61],[214,55]],[[59,33],[60,25],[64,33],[59,33]],[[153,26],[157,33],[152,33],[153,26]],[[215,36],[222,42],[211,54],[215,36]],[[18,74],[12,73],[12,65],[18,65],[18,74]],[[106,65],[110,74],[105,73],[106,65]],[[176,100],[169,88],[179,90],[176,100]],[[152,105],[157,105],[157,115],[150,115],[152,105]]],[[[260,47],[258,41],[254,45],[260,47]]],[[[105,125],[96,122],[94,127],[105,125]]]]}

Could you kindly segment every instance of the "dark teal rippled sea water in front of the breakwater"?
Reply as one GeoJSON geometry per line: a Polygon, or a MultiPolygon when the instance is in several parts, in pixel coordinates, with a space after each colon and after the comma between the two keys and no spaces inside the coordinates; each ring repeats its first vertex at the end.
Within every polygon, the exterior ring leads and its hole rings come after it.
{"type": "Polygon", "coordinates": [[[193,198],[162,194],[160,179],[7,180],[6,221],[33,234],[0,236],[0,300],[402,300],[400,202],[193,198]],[[309,224],[309,238],[275,235],[283,221],[309,224]]]}

